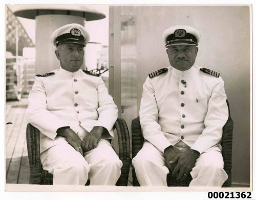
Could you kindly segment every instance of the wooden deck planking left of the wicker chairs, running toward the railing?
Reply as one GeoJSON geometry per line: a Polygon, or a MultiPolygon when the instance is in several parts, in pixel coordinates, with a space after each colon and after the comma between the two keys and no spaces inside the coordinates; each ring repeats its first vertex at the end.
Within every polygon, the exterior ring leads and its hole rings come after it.
{"type": "MultiPolygon", "coordinates": [[[[7,125],[10,125],[10,127],[12,126],[12,129],[6,129],[6,183],[18,183],[24,143],[26,143],[27,120],[24,117],[26,106],[23,105],[24,102],[22,101],[11,102],[11,104],[12,108],[8,112],[8,115],[12,114],[14,117],[6,117],[7,119],[14,118],[14,121],[10,121],[13,124],[7,125]]],[[[29,176],[29,174],[27,174],[27,176],[29,176]]]]}

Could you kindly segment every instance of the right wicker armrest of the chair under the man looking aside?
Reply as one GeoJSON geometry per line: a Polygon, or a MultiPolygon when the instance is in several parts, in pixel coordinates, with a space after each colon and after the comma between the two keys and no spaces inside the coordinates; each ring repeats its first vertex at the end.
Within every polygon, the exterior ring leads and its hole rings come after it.
{"type": "Polygon", "coordinates": [[[121,176],[116,185],[127,186],[130,170],[130,136],[127,124],[124,119],[118,118],[115,122],[115,129],[118,137],[119,159],[122,161],[121,176]]]}

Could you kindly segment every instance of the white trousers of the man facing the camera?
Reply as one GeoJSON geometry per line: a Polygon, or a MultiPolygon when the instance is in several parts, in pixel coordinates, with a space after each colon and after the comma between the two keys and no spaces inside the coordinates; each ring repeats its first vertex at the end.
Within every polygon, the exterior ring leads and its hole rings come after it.
{"type": "MultiPolygon", "coordinates": [[[[132,164],[140,186],[167,186],[166,175],[169,169],[164,155],[150,142],[144,142],[132,164]]],[[[189,186],[221,187],[228,178],[223,167],[221,152],[212,149],[202,153],[190,172],[193,180],[189,186]]]]}

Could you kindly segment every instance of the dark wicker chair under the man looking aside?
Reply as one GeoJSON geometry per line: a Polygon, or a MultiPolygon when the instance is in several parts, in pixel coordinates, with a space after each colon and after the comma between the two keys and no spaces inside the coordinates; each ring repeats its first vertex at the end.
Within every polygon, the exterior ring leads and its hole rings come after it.
{"type": "MultiPolygon", "coordinates": [[[[127,186],[130,169],[130,139],[124,119],[117,119],[115,129],[118,136],[119,159],[122,161],[121,176],[118,179],[117,186],[127,186]]],[[[30,166],[30,184],[52,185],[53,174],[42,169],[40,160],[40,137],[39,130],[30,123],[27,126],[27,147],[30,166]]],[[[90,181],[86,184],[88,185],[90,181]]]]}

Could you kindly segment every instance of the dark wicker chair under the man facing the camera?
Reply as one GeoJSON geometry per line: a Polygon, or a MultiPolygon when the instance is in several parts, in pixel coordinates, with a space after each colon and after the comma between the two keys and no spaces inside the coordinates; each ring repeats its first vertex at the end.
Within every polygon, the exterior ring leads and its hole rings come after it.
{"type": "MultiPolygon", "coordinates": [[[[222,156],[224,160],[224,170],[228,175],[227,181],[222,185],[222,187],[231,187],[231,168],[232,168],[232,133],[233,133],[233,121],[230,116],[229,104],[228,106],[228,120],[223,127],[222,135],[222,156]]],[[[134,158],[137,153],[142,148],[144,138],[141,133],[139,116],[132,121],[132,157],[134,158]]],[[[166,181],[168,186],[188,186],[192,180],[189,175],[187,180],[176,181],[175,178],[167,174],[166,181]]],[[[133,186],[140,186],[136,177],[135,169],[133,167],[133,186]]]]}

